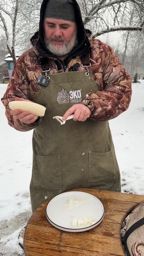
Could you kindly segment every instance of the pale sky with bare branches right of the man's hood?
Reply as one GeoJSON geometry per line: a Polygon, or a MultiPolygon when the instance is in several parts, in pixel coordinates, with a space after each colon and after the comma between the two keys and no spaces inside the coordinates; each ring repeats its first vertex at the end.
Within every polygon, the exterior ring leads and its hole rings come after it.
{"type": "Polygon", "coordinates": [[[94,32],[94,37],[113,31],[142,31],[144,27],[143,0],[79,0],[84,25],[94,32]],[[131,12],[138,9],[137,21],[126,24],[131,12]],[[141,11],[140,11],[141,10],[141,11]]]}

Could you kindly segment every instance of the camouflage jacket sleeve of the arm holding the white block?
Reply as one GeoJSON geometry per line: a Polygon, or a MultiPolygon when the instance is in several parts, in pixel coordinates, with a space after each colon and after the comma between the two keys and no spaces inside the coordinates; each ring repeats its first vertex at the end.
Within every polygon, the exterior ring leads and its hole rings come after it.
{"type": "Polygon", "coordinates": [[[16,120],[10,114],[10,108],[8,106],[8,103],[10,101],[14,101],[15,97],[23,98],[25,100],[30,100],[30,98],[28,98],[28,95],[24,94],[24,90],[22,90],[23,86],[25,88],[27,87],[27,91],[29,90],[29,84],[22,73],[21,60],[19,59],[19,60],[17,60],[15,66],[14,66],[11,81],[8,84],[6,92],[1,100],[6,108],[5,114],[6,114],[6,118],[8,119],[8,124],[18,131],[27,132],[27,131],[32,130],[36,126],[38,126],[39,122],[41,122],[41,118],[38,118],[38,120],[36,120],[36,122],[34,122],[32,124],[25,124],[25,123],[21,122],[20,120],[16,120]]]}

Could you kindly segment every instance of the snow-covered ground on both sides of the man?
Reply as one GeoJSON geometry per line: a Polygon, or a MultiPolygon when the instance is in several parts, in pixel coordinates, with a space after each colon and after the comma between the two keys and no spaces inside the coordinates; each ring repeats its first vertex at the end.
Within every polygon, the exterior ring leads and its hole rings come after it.
{"type": "MultiPolygon", "coordinates": [[[[144,195],[144,80],[132,84],[129,109],[110,121],[122,192],[144,195]]],[[[0,84],[0,98],[6,85],[0,84]]],[[[0,256],[22,256],[18,234],[31,215],[32,131],[8,126],[0,103],[0,256]]]]}

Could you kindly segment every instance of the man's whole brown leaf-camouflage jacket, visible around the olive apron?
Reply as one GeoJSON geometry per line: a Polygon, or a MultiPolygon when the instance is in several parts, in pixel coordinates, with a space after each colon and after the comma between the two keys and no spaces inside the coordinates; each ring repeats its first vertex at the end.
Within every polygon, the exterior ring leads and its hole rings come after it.
{"type": "MultiPolygon", "coordinates": [[[[91,66],[89,70],[93,73],[99,91],[88,93],[81,103],[90,108],[92,112],[90,119],[94,121],[110,120],[128,109],[132,94],[131,78],[110,46],[92,38],[90,39],[90,45],[92,53],[90,54],[91,66]]],[[[15,120],[10,115],[8,103],[13,101],[14,97],[36,101],[41,87],[37,83],[38,77],[42,75],[40,58],[41,56],[34,46],[18,58],[11,81],[2,98],[6,108],[8,124],[19,131],[28,131],[35,128],[40,122],[40,118],[32,124],[24,124],[20,120],[15,120]]],[[[59,62],[61,68],[57,68],[56,61],[58,59],[56,58],[48,57],[48,61],[50,74],[68,72],[68,69],[76,62],[80,64],[79,71],[85,70],[81,66],[80,56],[70,59],[66,70],[64,70],[61,62],[59,62]]]]}

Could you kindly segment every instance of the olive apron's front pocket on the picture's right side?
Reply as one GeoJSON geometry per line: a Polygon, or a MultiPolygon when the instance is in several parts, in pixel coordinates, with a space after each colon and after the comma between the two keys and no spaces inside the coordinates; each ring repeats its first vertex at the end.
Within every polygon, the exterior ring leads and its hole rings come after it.
{"type": "Polygon", "coordinates": [[[116,168],[112,151],[106,153],[89,153],[88,188],[104,186],[116,181],[116,168]]]}

